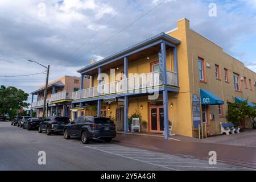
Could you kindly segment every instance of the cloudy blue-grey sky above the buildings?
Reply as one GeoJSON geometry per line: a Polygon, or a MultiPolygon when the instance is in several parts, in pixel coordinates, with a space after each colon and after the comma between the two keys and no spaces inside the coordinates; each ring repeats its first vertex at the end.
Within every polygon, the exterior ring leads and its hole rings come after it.
{"type": "MultiPolygon", "coordinates": [[[[44,72],[32,59],[51,65],[50,80],[78,76],[90,60],[171,30],[183,17],[256,72],[256,0],[163,1],[0,0],[0,75],[44,72]],[[217,5],[216,17],[208,14],[210,3],[217,5]]],[[[0,77],[0,85],[30,93],[45,77],[0,77]]]]}

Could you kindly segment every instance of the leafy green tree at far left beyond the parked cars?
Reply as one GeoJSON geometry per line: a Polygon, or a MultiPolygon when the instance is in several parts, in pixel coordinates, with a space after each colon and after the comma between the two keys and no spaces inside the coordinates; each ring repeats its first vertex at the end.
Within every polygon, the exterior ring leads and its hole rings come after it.
{"type": "Polygon", "coordinates": [[[0,88],[0,114],[9,115],[13,119],[19,109],[27,108],[28,94],[13,86],[0,88]]]}

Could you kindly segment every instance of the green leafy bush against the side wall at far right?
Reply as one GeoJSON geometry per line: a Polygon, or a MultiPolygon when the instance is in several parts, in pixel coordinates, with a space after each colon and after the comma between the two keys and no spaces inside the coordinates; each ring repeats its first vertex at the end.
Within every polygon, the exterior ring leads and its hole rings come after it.
{"type": "Polygon", "coordinates": [[[234,123],[236,127],[241,125],[245,118],[251,118],[254,121],[256,117],[255,109],[243,102],[229,102],[228,101],[228,114],[227,119],[229,122],[234,123]]]}

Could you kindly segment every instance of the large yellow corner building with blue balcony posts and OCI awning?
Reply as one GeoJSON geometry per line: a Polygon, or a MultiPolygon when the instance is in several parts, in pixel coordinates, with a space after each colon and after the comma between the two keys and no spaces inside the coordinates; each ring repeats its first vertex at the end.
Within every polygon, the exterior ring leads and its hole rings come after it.
{"type": "MultiPolygon", "coordinates": [[[[90,88],[73,93],[72,118],[111,117],[127,132],[133,113],[141,114],[141,131],[197,137],[198,124],[220,134],[227,101],[256,101],[256,74],[221,47],[191,30],[189,20],[177,28],[92,63],[77,71],[90,76],[90,88]],[[194,105],[194,107],[193,107],[194,105]]],[[[251,127],[247,119],[242,127],[251,127]]]]}

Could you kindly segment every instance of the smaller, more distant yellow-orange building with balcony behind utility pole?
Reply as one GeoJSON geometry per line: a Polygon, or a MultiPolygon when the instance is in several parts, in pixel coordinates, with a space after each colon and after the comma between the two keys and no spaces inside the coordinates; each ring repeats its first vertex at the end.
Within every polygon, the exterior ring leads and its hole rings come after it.
{"type": "MultiPolygon", "coordinates": [[[[73,100],[73,92],[80,89],[80,77],[63,76],[57,80],[48,83],[47,101],[46,101],[46,116],[56,115],[71,117],[71,101],[73,100]]],[[[89,80],[84,79],[83,88],[89,87],[89,80]]],[[[31,110],[36,110],[36,117],[43,116],[44,104],[44,89],[45,85],[40,86],[38,90],[32,92],[31,110]],[[34,102],[34,96],[37,96],[37,101],[34,102]]],[[[32,112],[31,112],[32,114],[32,112]]]]}

